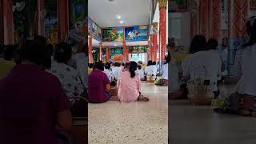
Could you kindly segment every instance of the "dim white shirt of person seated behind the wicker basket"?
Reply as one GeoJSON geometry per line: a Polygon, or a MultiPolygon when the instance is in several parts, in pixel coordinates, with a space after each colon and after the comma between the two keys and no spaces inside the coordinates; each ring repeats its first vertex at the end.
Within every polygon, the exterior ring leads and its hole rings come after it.
{"type": "Polygon", "coordinates": [[[210,84],[214,84],[214,91],[218,90],[218,74],[221,74],[222,60],[218,53],[213,51],[199,51],[190,54],[182,62],[183,76],[190,78],[209,79],[210,84]]]}

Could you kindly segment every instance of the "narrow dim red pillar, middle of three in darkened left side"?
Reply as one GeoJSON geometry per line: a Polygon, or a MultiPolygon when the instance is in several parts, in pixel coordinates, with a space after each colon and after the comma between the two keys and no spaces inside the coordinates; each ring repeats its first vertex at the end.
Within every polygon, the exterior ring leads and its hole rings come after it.
{"type": "Polygon", "coordinates": [[[38,0],[38,35],[45,36],[45,0],[38,0]]]}

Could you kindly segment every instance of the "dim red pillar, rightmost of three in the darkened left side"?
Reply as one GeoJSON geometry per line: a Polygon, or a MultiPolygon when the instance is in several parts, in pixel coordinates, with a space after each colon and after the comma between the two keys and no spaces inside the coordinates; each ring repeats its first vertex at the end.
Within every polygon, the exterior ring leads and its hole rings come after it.
{"type": "Polygon", "coordinates": [[[58,0],[58,38],[63,41],[69,30],[68,0],[58,0]]]}

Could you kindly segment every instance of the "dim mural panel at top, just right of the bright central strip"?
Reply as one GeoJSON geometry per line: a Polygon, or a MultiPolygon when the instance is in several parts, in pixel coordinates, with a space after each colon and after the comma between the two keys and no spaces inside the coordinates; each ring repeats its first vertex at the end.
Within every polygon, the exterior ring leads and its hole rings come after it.
{"type": "Polygon", "coordinates": [[[189,10],[189,0],[171,0],[168,4],[170,11],[187,11],[189,10]]]}

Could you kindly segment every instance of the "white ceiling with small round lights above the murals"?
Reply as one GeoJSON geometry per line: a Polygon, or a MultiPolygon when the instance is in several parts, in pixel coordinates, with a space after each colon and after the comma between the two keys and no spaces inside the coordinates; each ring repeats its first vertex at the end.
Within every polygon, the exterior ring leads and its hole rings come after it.
{"type": "Polygon", "coordinates": [[[89,17],[101,27],[147,25],[151,1],[89,0],[89,17]],[[118,19],[117,15],[121,15],[121,18],[118,19]]]}

